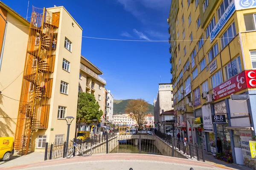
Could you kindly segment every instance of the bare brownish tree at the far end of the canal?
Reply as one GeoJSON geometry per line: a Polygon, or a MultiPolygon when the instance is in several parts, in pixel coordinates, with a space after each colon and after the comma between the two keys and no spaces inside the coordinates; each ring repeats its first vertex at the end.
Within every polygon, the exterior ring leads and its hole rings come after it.
{"type": "Polygon", "coordinates": [[[141,129],[146,112],[148,111],[148,102],[146,102],[144,99],[130,100],[125,111],[127,113],[132,113],[132,118],[137,121],[139,129],[141,129]]]}

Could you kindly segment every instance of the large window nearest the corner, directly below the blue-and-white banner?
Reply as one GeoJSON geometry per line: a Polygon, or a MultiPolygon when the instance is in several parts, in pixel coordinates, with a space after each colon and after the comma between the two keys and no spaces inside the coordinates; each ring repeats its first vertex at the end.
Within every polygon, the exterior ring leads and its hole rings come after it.
{"type": "Polygon", "coordinates": [[[232,23],[228,28],[227,31],[224,32],[224,34],[221,37],[221,49],[226,47],[228,43],[233,40],[233,38],[236,36],[236,27],[235,23],[232,23]]]}

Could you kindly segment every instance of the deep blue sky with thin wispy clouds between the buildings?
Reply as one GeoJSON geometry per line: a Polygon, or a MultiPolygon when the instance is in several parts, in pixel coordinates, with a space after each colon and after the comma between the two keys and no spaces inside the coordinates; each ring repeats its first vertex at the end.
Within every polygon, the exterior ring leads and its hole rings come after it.
{"type": "MultiPolygon", "coordinates": [[[[26,17],[27,0],[3,0],[26,17]]],[[[83,36],[125,40],[168,40],[171,0],[30,0],[36,7],[64,6],[83,36]]],[[[169,42],[128,42],[82,38],[81,54],[100,68],[115,99],[153,103],[158,83],[170,82],[169,42]]]]}

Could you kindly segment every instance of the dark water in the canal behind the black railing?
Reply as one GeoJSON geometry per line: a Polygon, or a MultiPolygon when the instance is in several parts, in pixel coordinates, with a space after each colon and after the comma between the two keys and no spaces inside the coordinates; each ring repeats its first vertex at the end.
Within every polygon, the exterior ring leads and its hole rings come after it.
{"type": "MultiPolygon", "coordinates": [[[[111,153],[139,153],[139,140],[119,140],[119,145],[111,153]]],[[[141,153],[158,154],[160,151],[153,144],[153,140],[141,140],[141,153]]]]}

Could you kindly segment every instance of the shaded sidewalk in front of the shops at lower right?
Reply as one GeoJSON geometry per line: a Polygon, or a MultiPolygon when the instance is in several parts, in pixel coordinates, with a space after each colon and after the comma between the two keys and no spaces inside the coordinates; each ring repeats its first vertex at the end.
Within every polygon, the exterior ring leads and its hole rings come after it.
{"type": "Polygon", "coordinates": [[[246,167],[244,165],[229,164],[224,161],[218,160],[214,158],[213,155],[211,153],[208,153],[207,151],[204,151],[204,157],[205,157],[205,162],[213,166],[222,167],[229,170],[252,170],[251,168],[246,167]]]}

